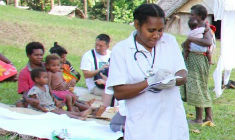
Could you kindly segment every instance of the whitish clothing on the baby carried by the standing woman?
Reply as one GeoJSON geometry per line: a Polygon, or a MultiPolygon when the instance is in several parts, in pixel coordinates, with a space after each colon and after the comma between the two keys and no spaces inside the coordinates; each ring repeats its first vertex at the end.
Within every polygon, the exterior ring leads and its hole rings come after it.
{"type": "MultiPolygon", "coordinates": [[[[188,36],[196,37],[196,38],[203,38],[204,32],[205,32],[205,27],[198,27],[196,29],[189,31],[188,36]]],[[[189,50],[191,52],[207,52],[208,47],[203,47],[203,46],[200,46],[191,42],[189,50]]]]}

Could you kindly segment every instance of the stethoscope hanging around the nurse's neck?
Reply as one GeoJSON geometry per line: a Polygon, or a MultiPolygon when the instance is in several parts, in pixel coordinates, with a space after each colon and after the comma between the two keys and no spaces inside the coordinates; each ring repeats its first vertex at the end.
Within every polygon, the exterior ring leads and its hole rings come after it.
{"type": "Polygon", "coordinates": [[[154,72],[153,72],[153,65],[154,65],[154,62],[155,62],[156,46],[154,46],[154,55],[153,55],[152,65],[151,65],[150,69],[148,69],[146,72],[144,72],[143,69],[141,68],[139,62],[138,62],[137,55],[138,55],[138,54],[143,55],[144,58],[148,61],[148,65],[149,65],[149,66],[150,66],[150,62],[149,62],[149,60],[148,60],[148,57],[144,54],[144,52],[138,50],[137,43],[136,43],[136,35],[134,36],[134,44],[135,44],[135,49],[136,49],[136,51],[135,51],[135,53],[134,53],[134,60],[136,61],[136,63],[137,63],[137,65],[138,65],[139,69],[140,69],[140,70],[142,71],[142,73],[146,76],[145,78],[154,75],[154,72]]]}

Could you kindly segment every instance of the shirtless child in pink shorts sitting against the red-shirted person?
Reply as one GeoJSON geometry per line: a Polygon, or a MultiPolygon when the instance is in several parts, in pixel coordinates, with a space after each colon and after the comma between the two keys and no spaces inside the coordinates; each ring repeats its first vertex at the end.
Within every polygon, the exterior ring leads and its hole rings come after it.
{"type": "Polygon", "coordinates": [[[69,87],[74,87],[76,80],[72,79],[69,82],[63,80],[60,57],[56,54],[46,57],[46,68],[48,70],[49,86],[53,94],[63,99],[68,111],[72,111],[72,105],[75,104],[77,97],[69,91],[69,87]]]}

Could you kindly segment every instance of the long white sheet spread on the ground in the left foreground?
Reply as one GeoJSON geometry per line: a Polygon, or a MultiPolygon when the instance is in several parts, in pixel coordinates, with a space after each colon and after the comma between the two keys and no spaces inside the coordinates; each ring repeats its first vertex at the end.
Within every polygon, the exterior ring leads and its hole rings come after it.
{"type": "Polygon", "coordinates": [[[48,139],[52,139],[54,130],[62,129],[68,130],[71,139],[117,140],[122,136],[121,133],[112,132],[109,125],[94,121],[76,120],[50,112],[40,115],[21,114],[2,107],[0,107],[0,128],[48,139]]]}

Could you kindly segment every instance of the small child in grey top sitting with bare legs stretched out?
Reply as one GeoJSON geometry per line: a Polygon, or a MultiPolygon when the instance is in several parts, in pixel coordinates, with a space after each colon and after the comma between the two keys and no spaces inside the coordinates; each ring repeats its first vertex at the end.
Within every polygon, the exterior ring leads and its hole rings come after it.
{"type": "Polygon", "coordinates": [[[43,112],[53,112],[56,114],[66,114],[71,118],[81,119],[81,117],[86,117],[91,113],[91,110],[86,110],[83,112],[68,112],[62,109],[59,109],[55,106],[53,99],[50,94],[48,87],[48,76],[46,70],[42,68],[36,68],[31,71],[31,78],[34,81],[35,85],[29,90],[28,97],[37,99],[39,101],[38,105],[30,106],[34,109],[43,111],[43,112]]]}

